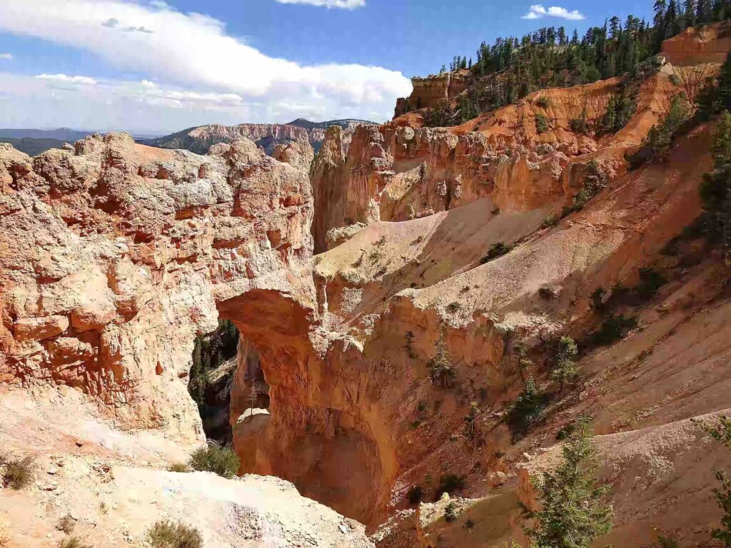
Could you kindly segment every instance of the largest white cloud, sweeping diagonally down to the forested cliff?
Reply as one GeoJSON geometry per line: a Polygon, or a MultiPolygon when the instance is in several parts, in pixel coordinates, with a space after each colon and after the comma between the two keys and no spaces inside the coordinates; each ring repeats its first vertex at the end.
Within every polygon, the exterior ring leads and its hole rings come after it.
{"type": "MultiPolygon", "coordinates": [[[[266,56],[227,34],[221,21],[178,12],[162,1],[2,0],[0,30],[88,50],[116,69],[145,75],[167,89],[198,94],[208,102],[227,96],[227,104],[232,104],[232,96],[238,96],[241,104],[249,105],[240,109],[239,122],[286,121],[284,117],[313,112],[322,118],[379,113],[380,121],[393,114],[396,97],[411,91],[401,72],[379,66],[308,66],[266,56]],[[126,32],[129,28],[138,31],[126,32]]],[[[107,83],[105,90],[111,88],[129,86],[107,83]]],[[[190,105],[196,99],[177,100],[190,105]]],[[[181,117],[180,124],[190,125],[189,118],[181,117]]]]}

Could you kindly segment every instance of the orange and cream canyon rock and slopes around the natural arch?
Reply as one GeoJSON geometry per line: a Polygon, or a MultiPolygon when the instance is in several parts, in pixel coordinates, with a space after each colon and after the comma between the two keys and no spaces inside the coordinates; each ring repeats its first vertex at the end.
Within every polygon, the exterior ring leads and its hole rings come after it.
{"type": "Polygon", "coordinates": [[[56,546],[67,511],[99,548],[142,546],[158,516],[194,520],[210,547],[524,541],[531,477],[582,414],[615,511],[596,546],[658,532],[710,545],[713,468],[731,454],[694,421],[731,412],[731,295],[721,248],[685,229],[702,215],[713,121],[664,161],[628,158],[730,50],[723,23],[664,42],[613,134],[571,122],[598,124],[621,78],[432,128],[404,105],[464,91],[440,75],[414,83],[393,121],[316,128],[317,155],[316,129],[274,126],[170,143],[205,151],[127,134],[34,158],[0,143],[0,442],[39,462],[28,490],[0,492],[6,546],[56,546]],[[254,142],[270,137],[286,142],[254,142]],[[592,343],[607,320],[597,292],[649,271],[664,283],[613,310],[635,324],[592,343]],[[205,441],[187,387],[194,340],[221,320],[239,333],[241,477],[166,471],[205,441]],[[548,367],[561,335],[582,347],[570,389],[548,367]],[[510,409],[529,376],[550,401],[520,431],[510,409]],[[265,410],[247,403],[254,387],[265,410]]]}

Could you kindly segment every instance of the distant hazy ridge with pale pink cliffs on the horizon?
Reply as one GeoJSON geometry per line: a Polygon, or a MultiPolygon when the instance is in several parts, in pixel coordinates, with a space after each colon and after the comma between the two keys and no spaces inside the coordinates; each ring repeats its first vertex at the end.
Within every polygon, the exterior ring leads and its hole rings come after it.
{"type": "Polygon", "coordinates": [[[241,123],[238,126],[222,126],[212,123],[208,126],[198,126],[183,129],[156,139],[143,140],[145,145],[159,148],[184,148],[198,154],[208,153],[211,145],[218,142],[233,142],[246,137],[260,145],[270,154],[275,145],[293,140],[308,140],[315,151],[319,151],[325,139],[325,130],[330,126],[340,126],[345,130],[344,142],[349,142],[355,127],[360,125],[373,126],[375,122],[366,120],[330,120],[312,122],[298,118],[289,123],[241,123]]]}

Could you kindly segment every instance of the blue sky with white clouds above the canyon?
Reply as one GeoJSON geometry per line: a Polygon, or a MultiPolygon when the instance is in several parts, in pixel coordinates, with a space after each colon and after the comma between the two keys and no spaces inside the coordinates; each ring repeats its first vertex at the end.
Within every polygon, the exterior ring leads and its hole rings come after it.
{"type": "Polygon", "coordinates": [[[535,1],[0,0],[0,127],[382,122],[482,40],[651,18],[651,0],[535,1]]]}

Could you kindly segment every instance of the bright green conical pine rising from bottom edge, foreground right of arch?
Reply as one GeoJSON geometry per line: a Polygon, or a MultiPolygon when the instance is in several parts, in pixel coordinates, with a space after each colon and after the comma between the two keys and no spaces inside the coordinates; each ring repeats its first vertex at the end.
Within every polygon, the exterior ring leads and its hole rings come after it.
{"type": "Polygon", "coordinates": [[[588,548],[612,528],[613,509],[603,501],[608,487],[597,485],[599,465],[586,417],[577,419],[561,450],[564,462],[534,482],[542,508],[526,528],[531,548],[588,548]]]}

